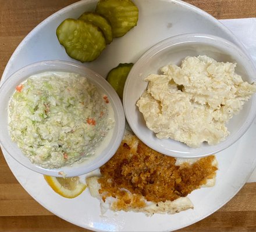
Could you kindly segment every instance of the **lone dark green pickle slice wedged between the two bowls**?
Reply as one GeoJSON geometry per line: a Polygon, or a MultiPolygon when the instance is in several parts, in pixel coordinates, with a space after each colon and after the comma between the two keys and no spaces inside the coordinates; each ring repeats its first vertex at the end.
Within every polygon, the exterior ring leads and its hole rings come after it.
{"type": "Polygon", "coordinates": [[[106,80],[116,90],[120,99],[123,99],[123,88],[131,67],[133,67],[133,63],[120,63],[117,67],[112,68],[106,76],[106,80]]]}

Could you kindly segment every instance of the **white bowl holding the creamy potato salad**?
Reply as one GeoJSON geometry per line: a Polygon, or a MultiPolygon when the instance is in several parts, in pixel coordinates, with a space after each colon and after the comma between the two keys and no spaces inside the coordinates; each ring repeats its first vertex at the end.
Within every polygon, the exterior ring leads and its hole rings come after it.
{"type": "Polygon", "coordinates": [[[171,37],[152,46],[138,59],[127,77],[123,93],[123,107],[127,122],[138,138],[152,149],[166,155],[179,158],[195,158],[217,153],[236,142],[247,131],[256,114],[256,96],[243,106],[238,115],[234,115],[227,124],[230,135],[224,142],[209,146],[203,143],[199,148],[191,148],[172,139],[158,139],[147,128],[143,115],[136,106],[137,100],[147,88],[144,78],[149,74],[158,74],[159,68],[173,63],[180,65],[187,56],[207,55],[217,61],[237,63],[236,73],[244,81],[252,83],[256,71],[250,56],[243,48],[223,38],[207,34],[183,34],[171,37]]]}

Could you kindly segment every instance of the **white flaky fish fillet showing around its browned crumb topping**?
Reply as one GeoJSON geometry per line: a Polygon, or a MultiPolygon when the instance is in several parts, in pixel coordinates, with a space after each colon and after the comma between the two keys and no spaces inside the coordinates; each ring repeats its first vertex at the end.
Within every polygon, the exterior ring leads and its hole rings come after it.
{"type": "MultiPolygon", "coordinates": [[[[137,136],[133,135],[132,132],[126,131],[125,136],[123,138],[123,143],[128,144],[130,147],[130,153],[137,151],[138,143],[137,136]]],[[[191,165],[194,162],[197,162],[198,158],[195,159],[176,159],[175,165],[183,166],[183,165],[191,165]]],[[[212,161],[212,166],[217,167],[218,163],[216,158],[214,157],[212,161]]],[[[206,180],[206,183],[202,184],[200,187],[212,187],[215,184],[215,172],[213,175],[209,176],[206,180]]],[[[90,191],[90,194],[98,198],[101,205],[101,212],[104,214],[106,211],[133,211],[133,212],[143,212],[147,216],[151,216],[154,213],[168,213],[173,214],[180,211],[185,211],[187,209],[193,209],[193,203],[190,201],[189,197],[179,197],[173,201],[159,201],[153,202],[148,201],[142,194],[134,194],[129,190],[120,188],[121,191],[125,192],[123,198],[116,197],[114,193],[109,191],[101,191],[101,184],[98,182],[101,176],[91,176],[87,177],[87,186],[90,191]],[[138,204],[139,202],[139,204],[138,204]]],[[[111,181],[111,179],[109,179],[111,181]]]]}

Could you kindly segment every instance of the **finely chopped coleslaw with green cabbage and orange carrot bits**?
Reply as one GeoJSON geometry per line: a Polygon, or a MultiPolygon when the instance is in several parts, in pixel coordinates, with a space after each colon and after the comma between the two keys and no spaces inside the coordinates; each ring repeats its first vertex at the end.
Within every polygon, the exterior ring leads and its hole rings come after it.
{"type": "Polygon", "coordinates": [[[112,128],[106,99],[79,74],[31,76],[10,99],[10,136],[34,164],[71,165],[93,155],[112,128]]]}

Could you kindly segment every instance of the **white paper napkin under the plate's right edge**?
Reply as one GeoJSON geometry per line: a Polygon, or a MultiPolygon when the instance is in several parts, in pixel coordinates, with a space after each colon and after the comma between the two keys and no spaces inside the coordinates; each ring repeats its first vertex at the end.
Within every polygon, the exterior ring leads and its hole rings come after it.
{"type": "MultiPolygon", "coordinates": [[[[256,64],[256,18],[220,20],[248,50],[256,64]]],[[[247,182],[256,182],[256,169],[247,182]]]]}

